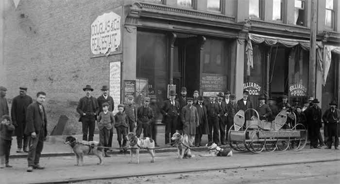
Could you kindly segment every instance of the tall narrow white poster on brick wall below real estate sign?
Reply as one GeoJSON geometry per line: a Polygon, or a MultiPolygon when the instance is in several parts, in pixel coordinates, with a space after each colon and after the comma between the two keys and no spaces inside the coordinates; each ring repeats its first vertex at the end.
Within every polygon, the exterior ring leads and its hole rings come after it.
{"type": "Polygon", "coordinates": [[[112,96],[115,102],[113,113],[118,112],[118,105],[120,104],[120,75],[120,61],[110,62],[109,95],[112,96]]]}

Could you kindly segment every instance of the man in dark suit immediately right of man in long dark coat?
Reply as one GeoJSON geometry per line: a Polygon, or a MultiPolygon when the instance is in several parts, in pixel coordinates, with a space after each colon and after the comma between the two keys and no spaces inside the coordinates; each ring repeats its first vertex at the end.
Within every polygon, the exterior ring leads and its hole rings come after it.
{"type": "Polygon", "coordinates": [[[212,94],[210,96],[210,102],[205,105],[209,125],[208,141],[214,141],[218,146],[221,146],[219,119],[221,115],[223,115],[223,112],[219,107],[219,104],[215,102],[215,98],[216,95],[212,94]]]}

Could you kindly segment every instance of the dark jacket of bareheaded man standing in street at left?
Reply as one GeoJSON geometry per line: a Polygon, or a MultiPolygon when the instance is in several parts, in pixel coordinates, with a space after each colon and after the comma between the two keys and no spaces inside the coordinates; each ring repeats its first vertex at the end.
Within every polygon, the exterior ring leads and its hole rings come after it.
{"type": "Polygon", "coordinates": [[[35,132],[35,134],[39,134],[41,129],[44,128],[44,137],[47,136],[47,118],[45,107],[43,107],[43,111],[45,119],[44,121],[42,119],[42,113],[37,102],[27,107],[25,128],[26,135],[31,135],[32,132],[35,132]]]}

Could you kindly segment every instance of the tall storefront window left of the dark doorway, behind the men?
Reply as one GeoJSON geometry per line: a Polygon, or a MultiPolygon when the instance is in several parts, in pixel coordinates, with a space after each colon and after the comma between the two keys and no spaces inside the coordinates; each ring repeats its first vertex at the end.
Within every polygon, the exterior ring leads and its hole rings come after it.
{"type": "MultiPolygon", "coordinates": [[[[167,99],[167,36],[137,32],[136,104],[155,94],[157,105],[167,99]]],[[[158,117],[160,118],[160,117],[158,117]]]]}

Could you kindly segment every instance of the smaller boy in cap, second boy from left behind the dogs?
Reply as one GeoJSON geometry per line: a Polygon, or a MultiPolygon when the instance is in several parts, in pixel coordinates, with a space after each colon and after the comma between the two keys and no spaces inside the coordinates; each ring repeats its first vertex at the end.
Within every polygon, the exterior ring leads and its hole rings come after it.
{"type": "MultiPolygon", "coordinates": [[[[119,143],[119,148],[126,146],[126,135],[127,135],[127,128],[129,127],[129,120],[125,113],[123,113],[124,105],[118,105],[118,112],[115,115],[115,128],[117,130],[117,140],[119,143]],[[123,146],[121,145],[121,137],[123,137],[123,146]]],[[[123,150],[120,150],[122,152],[123,150]]]]}

